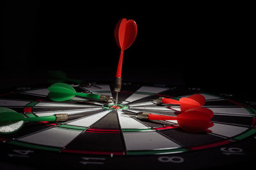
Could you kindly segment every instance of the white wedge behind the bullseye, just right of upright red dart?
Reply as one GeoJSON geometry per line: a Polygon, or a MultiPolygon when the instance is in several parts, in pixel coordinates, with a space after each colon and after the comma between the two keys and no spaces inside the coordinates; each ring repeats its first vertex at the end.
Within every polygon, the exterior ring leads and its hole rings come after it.
{"type": "Polygon", "coordinates": [[[129,102],[136,101],[138,99],[142,99],[144,97],[148,97],[148,96],[151,96],[152,94],[157,94],[157,93],[163,92],[165,90],[168,90],[168,88],[143,86],[136,91],[136,92],[138,92],[138,94],[135,92],[134,94],[129,96],[125,101],[129,101],[129,102]],[[140,93],[142,93],[142,94],[140,94],[140,93]],[[143,93],[145,93],[145,94],[143,94],[143,93]]]}

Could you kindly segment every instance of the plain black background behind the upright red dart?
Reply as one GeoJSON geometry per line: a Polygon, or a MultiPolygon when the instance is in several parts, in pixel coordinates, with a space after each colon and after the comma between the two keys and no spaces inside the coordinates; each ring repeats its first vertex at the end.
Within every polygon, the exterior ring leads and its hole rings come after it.
{"type": "Polygon", "coordinates": [[[251,4],[3,1],[1,87],[44,83],[47,70],[114,81],[120,18],[138,35],[124,52],[123,81],[168,83],[253,101],[251,4]]]}

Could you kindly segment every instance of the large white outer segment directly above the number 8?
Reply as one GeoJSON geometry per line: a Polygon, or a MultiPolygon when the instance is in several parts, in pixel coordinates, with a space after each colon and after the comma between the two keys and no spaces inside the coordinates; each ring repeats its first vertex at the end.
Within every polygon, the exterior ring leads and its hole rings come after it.
{"type": "Polygon", "coordinates": [[[123,132],[127,150],[157,150],[181,146],[157,132],[123,132]]]}

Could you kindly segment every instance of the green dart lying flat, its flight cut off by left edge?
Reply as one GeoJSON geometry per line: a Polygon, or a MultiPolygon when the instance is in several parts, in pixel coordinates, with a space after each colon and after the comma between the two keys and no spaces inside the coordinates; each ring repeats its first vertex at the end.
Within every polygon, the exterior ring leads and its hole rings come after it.
{"type": "Polygon", "coordinates": [[[22,114],[9,108],[0,108],[0,134],[17,132],[25,122],[65,122],[73,118],[83,117],[84,115],[84,113],[74,115],[60,113],[52,116],[26,118],[22,114]]]}

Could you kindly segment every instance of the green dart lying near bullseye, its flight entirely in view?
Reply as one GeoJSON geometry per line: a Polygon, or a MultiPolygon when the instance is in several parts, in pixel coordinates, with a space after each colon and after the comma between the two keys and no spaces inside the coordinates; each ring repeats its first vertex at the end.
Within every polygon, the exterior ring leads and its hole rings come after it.
{"type": "Polygon", "coordinates": [[[72,86],[66,83],[54,83],[53,85],[51,85],[51,87],[48,88],[48,90],[50,91],[48,97],[52,101],[67,101],[75,96],[96,99],[108,103],[113,101],[113,97],[103,94],[99,95],[76,92],[76,90],[72,86]]]}

